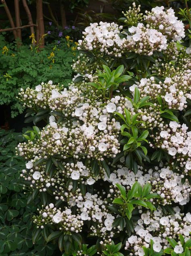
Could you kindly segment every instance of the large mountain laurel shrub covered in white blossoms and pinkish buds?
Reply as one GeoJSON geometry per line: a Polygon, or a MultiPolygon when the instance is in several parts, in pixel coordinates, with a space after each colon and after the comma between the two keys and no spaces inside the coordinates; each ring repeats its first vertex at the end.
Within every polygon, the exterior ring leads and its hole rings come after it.
{"type": "Polygon", "coordinates": [[[23,188],[42,200],[33,241],[63,256],[189,256],[190,31],[163,6],[133,4],[119,22],[85,28],[68,89],[19,93],[27,117],[48,120],[17,146],[23,188]]]}

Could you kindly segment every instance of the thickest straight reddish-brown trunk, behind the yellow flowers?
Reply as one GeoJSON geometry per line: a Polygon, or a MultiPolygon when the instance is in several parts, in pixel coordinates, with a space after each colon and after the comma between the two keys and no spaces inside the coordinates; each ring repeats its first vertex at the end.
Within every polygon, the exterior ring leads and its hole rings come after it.
{"type": "Polygon", "coordinates": [[[44,20],[42,0],[36,0],[39,48],[44,48],[44,20]]]}

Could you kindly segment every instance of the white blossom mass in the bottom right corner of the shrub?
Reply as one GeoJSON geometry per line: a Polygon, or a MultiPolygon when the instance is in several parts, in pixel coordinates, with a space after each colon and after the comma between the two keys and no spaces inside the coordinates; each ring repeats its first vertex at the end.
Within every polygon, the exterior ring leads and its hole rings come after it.
{"type": "MultiPolygon", "coordinates": [[[[174,208],[174,216],[164,216],[162,209],[158,207],[154,213],[146,212],[141,214],[141,219],[138,220],[135,226],[136,235],[132,235],[126,242],[126,250],[129,250],[131,255],[144,256],[142,246],[149,247],[151,239],[154,241],[154,252],[160,252],[162,249],[169,247],[166,237],[173,239],[178,238],[178,234],[189,238],[191,232],[191,214],[180,213],[180,208],[174,208]]],[[[178,249],[178,248],[177,248],[178,249]]]]}

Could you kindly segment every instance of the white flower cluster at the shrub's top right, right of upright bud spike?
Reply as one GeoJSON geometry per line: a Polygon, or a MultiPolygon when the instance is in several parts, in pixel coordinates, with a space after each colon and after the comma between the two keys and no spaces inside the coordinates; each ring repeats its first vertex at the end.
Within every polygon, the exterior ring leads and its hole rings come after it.
{"type": "Polygon", "coordinates": [[[151,12],[146,11],[143,19],[149,28],[155,28],[168,38],[180,41],[185,37],[184,24],[174,15],[174,10],[169,8],[164,11],[164,6],[156,6],[151,12]]]}

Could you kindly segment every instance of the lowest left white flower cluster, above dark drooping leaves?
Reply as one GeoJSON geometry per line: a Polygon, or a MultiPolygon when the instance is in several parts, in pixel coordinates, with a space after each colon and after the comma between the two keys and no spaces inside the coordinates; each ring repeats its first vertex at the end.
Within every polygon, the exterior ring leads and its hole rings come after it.
{"type": "Polygon", "coordinates": [[[58,224],[58,228],[64,234],[79,233],[82,231],[83,221],[79,215],[72,214],[71,209],[56,209],[53,203],[50,203],[45,209],[39,210],[38,216],[33,216],[33,222],[37,224],[37,228],[44,228],[46,224],[58,224]]]}

